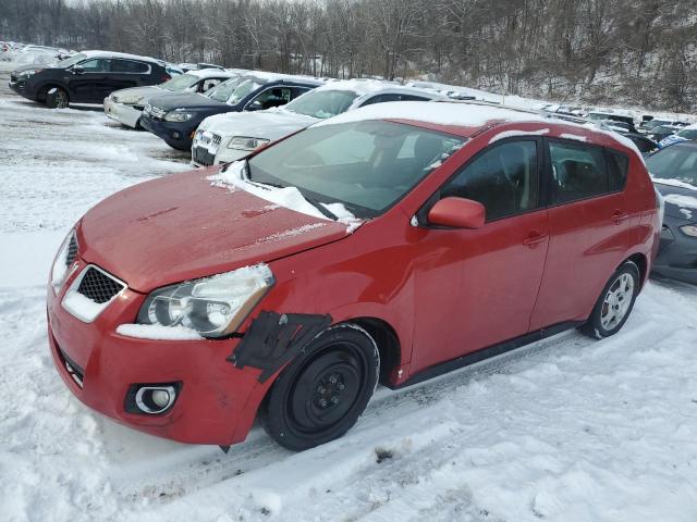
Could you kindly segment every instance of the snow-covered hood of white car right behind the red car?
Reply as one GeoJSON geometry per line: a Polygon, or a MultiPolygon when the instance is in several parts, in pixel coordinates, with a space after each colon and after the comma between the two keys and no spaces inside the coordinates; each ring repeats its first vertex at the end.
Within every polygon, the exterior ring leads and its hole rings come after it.
{"type": "Polygon", "coordinates": [[[240,112],[207,117],[199,128],[221,136],[249,136],[276,140],[317,121],[315,117],[284,110],[240,112]]]}

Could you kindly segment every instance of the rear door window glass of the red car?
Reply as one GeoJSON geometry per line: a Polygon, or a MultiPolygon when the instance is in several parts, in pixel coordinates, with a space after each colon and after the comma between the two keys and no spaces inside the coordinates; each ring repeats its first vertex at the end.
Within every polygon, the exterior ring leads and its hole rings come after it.
{"type": "Polygon", "coordinates": [[[602,148],[550,140],[549,152],[552,203],[566,203],[610,191],[602,148]]]}

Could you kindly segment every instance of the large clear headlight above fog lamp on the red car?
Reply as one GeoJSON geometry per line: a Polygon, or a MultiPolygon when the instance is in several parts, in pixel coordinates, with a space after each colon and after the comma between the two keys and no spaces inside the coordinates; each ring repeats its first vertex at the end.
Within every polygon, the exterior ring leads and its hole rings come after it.
{"type": "Polygon", "coordinates": [[[187,281],[152,291],[138,312],[140,324],[185,326],[206,337],[233,333],[273,286],[266,264],[187,281]]]}

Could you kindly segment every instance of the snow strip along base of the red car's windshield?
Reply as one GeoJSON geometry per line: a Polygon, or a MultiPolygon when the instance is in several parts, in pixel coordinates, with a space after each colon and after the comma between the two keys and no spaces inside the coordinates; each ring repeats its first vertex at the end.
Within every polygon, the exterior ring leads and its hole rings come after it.
{"type": "MultiPolygon", "coordinates": [[[[227,169],[221,170],[218,174],[209,176],[208,179],[213,186],[225,187],[229,190],[245,190],[253,194],[257,198],[266,199],[280,207],[294,210],[302,214],[310,215],[325,221],[331,221],[330,217],[321,213],[314,204],[309,203],[296,187],[270,187],[268,185],[254,183],[246,178],[246,160],[230,163],[227,169]]],[[[321,203],[327,210],[333,213],[339,223],[346,225],[346,233],[351,234],[363,223],[353,215],[342,203],[321,203]]]]}

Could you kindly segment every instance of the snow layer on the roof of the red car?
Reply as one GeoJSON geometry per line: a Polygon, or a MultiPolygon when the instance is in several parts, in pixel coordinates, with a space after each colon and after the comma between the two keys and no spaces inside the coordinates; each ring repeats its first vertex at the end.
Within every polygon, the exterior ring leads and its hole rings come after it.
{"type": "Polygon", "coordinates": [[[363,120],[409,120],[437,125],[479,127],[490,121],[547,122],[550,119],[536,112],[503,108],[486,103],[431,101],[393,101],[375,103],[330,117],[318,125],[359,122],[363,120]]]}

